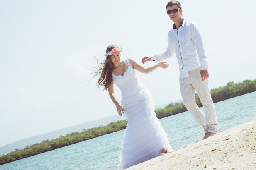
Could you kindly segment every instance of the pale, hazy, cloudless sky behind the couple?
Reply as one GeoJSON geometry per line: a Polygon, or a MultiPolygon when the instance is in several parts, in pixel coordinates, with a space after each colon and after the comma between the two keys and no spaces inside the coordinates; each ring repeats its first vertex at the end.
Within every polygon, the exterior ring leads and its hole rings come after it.
{"type": "MultiPolygon", "coordinates": [[[[256,78],[252,0],[182,0],[205,41],[210,89],[256,78]]],[[[116,115],[90,67],[107,45],[141,62],[167,46],[168,0],[0,0],[0,146],[116,115]]],[[[156,105],[181,99],[176,57],[168,69],[136,72],[156,105]]],[[[154,65],[147,62],[146,67],[154,65]]],[[[115,86],[118,101],[121,93],[115,86]]]]}

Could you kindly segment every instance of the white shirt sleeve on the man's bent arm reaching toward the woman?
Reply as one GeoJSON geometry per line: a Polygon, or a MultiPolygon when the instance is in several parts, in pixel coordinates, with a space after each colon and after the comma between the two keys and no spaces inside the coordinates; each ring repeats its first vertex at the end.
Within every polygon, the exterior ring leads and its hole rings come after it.
{"type": "MultiPolygon", "coordinates": [[[[170,32],[169,32],[169,34],[170,34],[170,32]]],[[[168,34],[168,47],[166,48],[166,50],[163,53],[159,53],[159,54],[155,54],[155,55],[151,56],[152,61],[160,62],[167,58],[173,57],[175,51],[174,51],[173,45],[171,45],[171,39],[170,39],[169,34],[168,34]]]]}

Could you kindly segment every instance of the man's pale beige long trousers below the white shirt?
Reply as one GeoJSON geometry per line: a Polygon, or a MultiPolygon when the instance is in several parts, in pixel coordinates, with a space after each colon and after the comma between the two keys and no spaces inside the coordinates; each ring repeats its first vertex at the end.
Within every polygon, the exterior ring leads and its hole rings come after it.
{"type": "Polygon", "coordinates": [[[218,121],[215,106],[212,102],[211,93],[208,88],[208,79],[202,81],[200,67],[193,71],[189,71],[188,74],[189,76],[186,78],[180,77],[180,92],[183,104],[193,115],[195,121],[202,126],[205,133],[217,133],[218,121]],[[205,108],[205,115],[195,103],[195,91],[197,91],[200,101],[205,108]]]}

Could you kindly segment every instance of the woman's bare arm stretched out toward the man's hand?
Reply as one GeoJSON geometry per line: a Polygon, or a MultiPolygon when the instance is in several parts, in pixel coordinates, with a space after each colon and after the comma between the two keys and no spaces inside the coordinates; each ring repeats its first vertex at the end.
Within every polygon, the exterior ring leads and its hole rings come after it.
{"type": "Polygon", "coordinates": [[[132,60],[132,59],[129,59],[129,60],[130,60],[131,66],[134,69],[138,70],[139,72],[145,73],[145,74],[153,72],[157,67],[162,67],[162,68],[166,69],[169,66],[169,63],[163,61],[163,62],[158,62],[156,65],[154,65],[152,67],[145,68],[145,67],[139,65],[134,60],[132,60]]]}

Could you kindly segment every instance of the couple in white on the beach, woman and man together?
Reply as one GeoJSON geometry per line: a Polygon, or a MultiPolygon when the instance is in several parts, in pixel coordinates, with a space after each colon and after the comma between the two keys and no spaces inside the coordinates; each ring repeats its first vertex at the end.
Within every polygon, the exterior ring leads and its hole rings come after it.
{"type": "Polygon", "coordinates": [[[178,1],[168,2],[166,10],[174,22],[168,34],[168,47],[163,53],[141,60],[142,64],[156,61],[156,65],[145,68],[132,59],[121,60],[122,48],[109,45],[105,61],[100,63],[95,73],[99,76],[98,86],[104,86],[109,92],[118,114],[125,114],[127,117],[128,123],[119,155],[119,169],[173,151],[167,134],[154,112],[150,93],[139,83],[135,69],[146,74],[158,67],[165,69],[169,64],[160,61],[176,55],[180,70],[180,92],[185,107],[203,128],[203,139],[218,132],[215,106],[208,88],[208,60],[202,35],[195,23],[183,19],[183,9],[178,1]],[[121,105],[114,95],[114,83],[122,92],[121,105]],[[195,91],[205,108],[205,115],[195,103],[195,91]]]}

